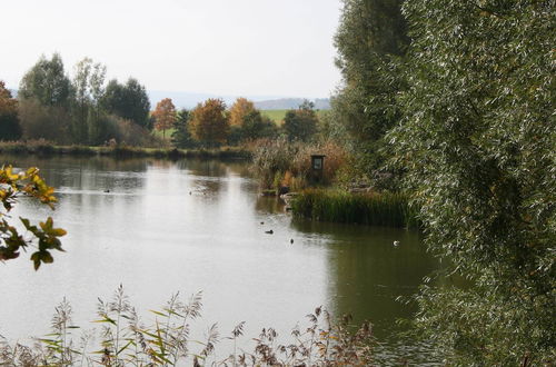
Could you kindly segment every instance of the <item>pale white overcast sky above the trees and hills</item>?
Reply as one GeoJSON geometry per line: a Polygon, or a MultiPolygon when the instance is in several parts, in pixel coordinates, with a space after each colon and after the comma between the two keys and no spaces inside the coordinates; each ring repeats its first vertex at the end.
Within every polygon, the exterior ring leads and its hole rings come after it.
{"type": "Polygon", "coordinates": [[[148,90],[329,97],[340,0],[0,0],[0,80],[85,57],[148,90]]]}

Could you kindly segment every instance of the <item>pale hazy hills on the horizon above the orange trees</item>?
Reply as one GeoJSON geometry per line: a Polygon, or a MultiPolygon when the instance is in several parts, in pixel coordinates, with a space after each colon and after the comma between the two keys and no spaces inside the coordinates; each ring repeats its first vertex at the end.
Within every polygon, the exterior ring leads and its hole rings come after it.
{"type": "MultiPolygon", "coordinates": [[[[152,109],[157,103],[165,99],[171,98],[177,108],[195,108],[209,98],[220,98],[226,105],[231,106],[238,97],[245,97],[255,102],[255,107],[261,110],[289,110],[298,108],[304,102],[304,98],[284,98],[281,96],[221,96],[211,93],[195,93],[185,91],[163,91],[163,90],[148,90],[150,106],[152,109]]],[[[330,109],[330,101],[328,98],[309,99],[315,102],[315,108],[319,110],[330,109]]]]}

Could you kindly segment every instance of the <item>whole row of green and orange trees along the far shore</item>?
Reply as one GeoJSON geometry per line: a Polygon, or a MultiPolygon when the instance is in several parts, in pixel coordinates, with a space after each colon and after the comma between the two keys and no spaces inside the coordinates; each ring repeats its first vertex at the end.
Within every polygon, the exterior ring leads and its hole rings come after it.
{"type": "Polygon", "coordinates": [[[315,105],[309,101],[287,111],[281,126],[246,98],[238,98],[229,109],[221,99],[208,99],[192,110],[177,110],[166,98],[151,111],[146,88],[137,79],[106,82],[106,66],[85,58],[70,79],[54,53],[50,59],[42,56],[23,76],[17,98],[0,81],[0,140],[163,146],[166,131],[171,130],[175,147],[198,148],[278,136],[308,141],[318,130],[315,105]],[[162,139],[151,133],[153,129],[162,131],[162,139]]]}

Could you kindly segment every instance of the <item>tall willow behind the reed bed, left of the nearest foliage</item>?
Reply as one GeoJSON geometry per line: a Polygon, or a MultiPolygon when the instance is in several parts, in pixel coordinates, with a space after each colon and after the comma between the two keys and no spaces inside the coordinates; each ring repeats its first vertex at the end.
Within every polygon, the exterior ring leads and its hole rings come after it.
{"type": "Polygon", "coordinates": [[[400,119],[396,97],[405,88],[401,66],[409,43],[403,0],[342,0],[334,42],[342,86],[331,100],[331,119],[351,140],[361,170],[380,168],[383,137],[400,119]]]}

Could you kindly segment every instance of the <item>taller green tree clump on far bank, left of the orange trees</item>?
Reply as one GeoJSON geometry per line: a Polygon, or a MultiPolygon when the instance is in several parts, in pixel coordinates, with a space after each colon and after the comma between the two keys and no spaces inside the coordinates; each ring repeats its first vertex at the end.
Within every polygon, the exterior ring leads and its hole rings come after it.
{"type": "Polygon", "coordinates": [[[75,66],[70,79],[58,53],[42,56],[21,79],[17,100],[2,83],[0,125],[10,128],[2,129],[0,139],[93,146],[110,139],[131,145],[152,142],[145,87],[133,78],[107,83],[106,71],[103,65],[85,58],[75,66]]]}

